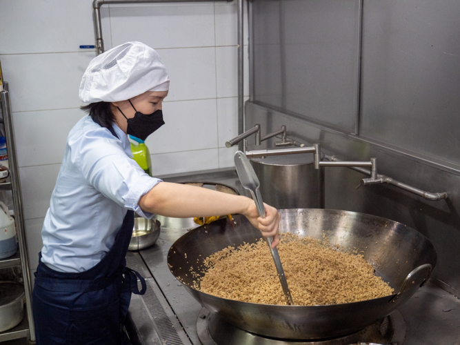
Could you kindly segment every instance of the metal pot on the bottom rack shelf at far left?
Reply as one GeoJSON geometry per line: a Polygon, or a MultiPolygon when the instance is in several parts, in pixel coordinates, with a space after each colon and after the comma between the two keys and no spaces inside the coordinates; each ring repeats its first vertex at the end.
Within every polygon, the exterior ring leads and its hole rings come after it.
{"type": "Polygon", "coordinates": [[[24,287],[14,282],[0,282],[0,332],[17,326],[24,316],[24,287]]]}

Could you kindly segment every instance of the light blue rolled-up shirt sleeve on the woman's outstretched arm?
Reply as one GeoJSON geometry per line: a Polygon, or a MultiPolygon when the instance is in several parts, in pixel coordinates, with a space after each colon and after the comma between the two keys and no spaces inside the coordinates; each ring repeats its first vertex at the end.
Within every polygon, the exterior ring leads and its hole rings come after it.
{"type": "Polygon", "coordinates": [[[161,179],[146,174],[126,154],[119,141],[103,128],[86,132],[74,144],[74,157],[90,186],[117,204],[134,210],[141,217],[153,216],[141,210],[139,199],[159,184],[161,179]]]}

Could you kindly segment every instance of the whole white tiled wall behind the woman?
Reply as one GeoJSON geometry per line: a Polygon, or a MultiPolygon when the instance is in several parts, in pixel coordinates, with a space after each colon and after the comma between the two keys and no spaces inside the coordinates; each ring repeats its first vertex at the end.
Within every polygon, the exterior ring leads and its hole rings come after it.
{"type": "MultiPolygon", "coordinates": [[[[83,116],[79,83],[95,52],[79,46],[94,44],[92,0],[0,0],[0,13],[34,270],[66,137],[83,116]]],[[[237,135],[237,1],[102,6],[101,19],[106,50],[143,41],[168,68],[166,126],[147,141],[154,175],[233,166],[236,148],[223,146],[237,135]]],[[[247,31],[245,20],[246,42],[247,31]]]]}

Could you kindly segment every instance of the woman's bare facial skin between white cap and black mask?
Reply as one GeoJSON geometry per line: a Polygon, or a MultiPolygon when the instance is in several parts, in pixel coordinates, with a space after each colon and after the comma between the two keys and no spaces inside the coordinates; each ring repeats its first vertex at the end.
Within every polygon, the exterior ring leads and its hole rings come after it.
{"type": "Polygon", "coordinates": [[[127,119],[134,117],[134,115],[136,115],[136,111],[149,115],[152,114],[152,112],[161,110],[163,99],[165,99],[166,96],[168,96],[168,91],[146,91],[142,95],[133,97],[130,101],[136,110],[132,108],[128,100],[112,102],[110,108],[115,116],[115,123],[119,126],[119,128],[121,128],[121,130],[126,132],[128,124],[120,110],[127,119]]]}

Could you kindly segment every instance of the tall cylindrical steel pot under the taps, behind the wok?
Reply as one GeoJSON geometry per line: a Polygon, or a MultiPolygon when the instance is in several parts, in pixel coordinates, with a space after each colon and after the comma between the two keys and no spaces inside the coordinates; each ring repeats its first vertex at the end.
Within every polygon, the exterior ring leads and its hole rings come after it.
{"type": "Polygon", "coordinates": [[[281,208],[321,208],[321,170],[312,153],[250,159],[262,199],[281,208]]]}

